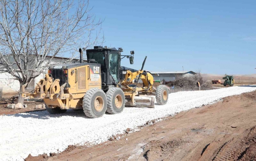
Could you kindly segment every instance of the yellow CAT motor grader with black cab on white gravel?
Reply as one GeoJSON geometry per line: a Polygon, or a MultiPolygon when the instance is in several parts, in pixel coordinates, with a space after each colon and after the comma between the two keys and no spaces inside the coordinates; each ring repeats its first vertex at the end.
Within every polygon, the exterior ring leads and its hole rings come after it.
{"type": "Polygon", "coordinates": [[[121,55],[122,48],[94,46],[86,50],[88,63],[83,63],[83,50],[79,49],[80,63],[50,66],[34,93],[26,92],[27,84],[24,84],[22,97],[42,98],[51,114],[83,109],[91,118],[106,112],[121,113],[125,106],[154,107],[155,98],[159,105],[167,103],[168,88],[160,85],[155,89],[152,74],[143,70],[147,57],[142,68],[134,70],[120,66],[125,57],[133,64],[134,51],[131,55],[121,55]],[[134,80],[137,84],[141,80],[143,87],[137,87],[134,80]]]}

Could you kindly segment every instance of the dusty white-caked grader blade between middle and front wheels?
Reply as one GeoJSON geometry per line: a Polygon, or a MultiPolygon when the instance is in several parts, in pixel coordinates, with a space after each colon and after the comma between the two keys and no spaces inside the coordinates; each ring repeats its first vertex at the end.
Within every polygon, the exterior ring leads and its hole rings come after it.
{"type": "Polygon", "coordinates": [[[125,106],[154,108],[155,107],[155,97],[154,96],[148,96],[148,95],[135,96],[134,97],[134,103],[132,104],[131,102],[128,102],[128,103],[125,104],[125,106]]]}

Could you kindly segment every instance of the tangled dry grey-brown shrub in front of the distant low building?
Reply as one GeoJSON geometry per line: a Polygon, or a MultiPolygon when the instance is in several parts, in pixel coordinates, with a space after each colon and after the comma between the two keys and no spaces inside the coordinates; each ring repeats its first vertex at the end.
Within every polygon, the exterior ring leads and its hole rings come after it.
{"type": "Polygon", "coordinates": [[[174,85],[174,89],[182,88],[182,91],[195,91],[195,90],[198,90],[198,86],[196,85],[197,82],[200,83],[201,90],[213,89],[212,84],[203,79],[200,71],[193,76],[183,77],[183,76],[177,75],[175,77],[175,80],[170,81],[168,83],[168,86],[172,87],[174,85]]]}

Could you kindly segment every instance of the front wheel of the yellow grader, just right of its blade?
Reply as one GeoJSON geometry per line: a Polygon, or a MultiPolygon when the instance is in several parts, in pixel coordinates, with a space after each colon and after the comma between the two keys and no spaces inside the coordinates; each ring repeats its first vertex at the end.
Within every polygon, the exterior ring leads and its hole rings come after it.
{"type": "Polygon", "coordinates": [[[159,85],[156,88],[156,102],[159,105],[165,105],[168,101],[168,88],[165,85],[159,85]]]}

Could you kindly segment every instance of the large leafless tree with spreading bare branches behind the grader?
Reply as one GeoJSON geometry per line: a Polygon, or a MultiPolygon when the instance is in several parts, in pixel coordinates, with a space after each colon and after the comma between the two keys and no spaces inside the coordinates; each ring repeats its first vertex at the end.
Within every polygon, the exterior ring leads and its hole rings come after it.
{"type": "MultiPolygon", "coordinates": [[[[39,76],[55,56],[98,44],[102,20],[90,14],[88,0],[1,0],[0,68],[20,87],[39,76]]],[[[24,99],[19,94],[18,103],[24,99]]]]}

